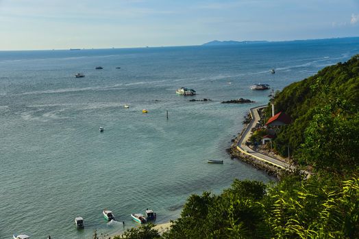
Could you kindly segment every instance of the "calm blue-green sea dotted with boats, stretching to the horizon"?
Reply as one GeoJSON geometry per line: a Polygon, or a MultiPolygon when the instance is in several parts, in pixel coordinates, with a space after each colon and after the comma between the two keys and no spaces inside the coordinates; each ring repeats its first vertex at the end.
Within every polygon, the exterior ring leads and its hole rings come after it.
{"type": "Polygon", "coordinates": [[[234,178],[273,180],[225,152],[249,108],[268,101],[269,91],[249,85],[282,89],[358,53],[359,38],[0,52],[0,238],[123,230],[106,223],[103,208],[126,228],[136,226],[129,214],[146,208],[164,223],[193,193],[221,193],[234,178]],[[177,96],[179,87],[197,96],[177,96]],[[256,103],[220,104],[234,98],[256,103]],[[84,217],[84,231],[75,216],[84,217]]]}

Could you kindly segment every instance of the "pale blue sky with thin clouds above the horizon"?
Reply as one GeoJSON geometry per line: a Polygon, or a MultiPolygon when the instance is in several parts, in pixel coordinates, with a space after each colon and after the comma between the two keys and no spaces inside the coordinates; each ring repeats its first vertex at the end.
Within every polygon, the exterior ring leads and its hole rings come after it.
{"type": "Polygon", "coordinates": [[[359,0],[0,0],[0,50],[359,36],[359,0]]]}

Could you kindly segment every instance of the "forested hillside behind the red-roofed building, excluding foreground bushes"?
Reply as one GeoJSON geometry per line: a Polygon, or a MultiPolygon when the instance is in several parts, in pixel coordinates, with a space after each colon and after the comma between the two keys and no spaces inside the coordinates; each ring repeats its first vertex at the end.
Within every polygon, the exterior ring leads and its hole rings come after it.
{"type": "MultiPolygon", "coordinates": [[[[329,165],[337,158],[337,163],[341,164],[343,156],[350,152],[353,155],[359,148],[359,55],[288,85],[275,95],[273,103],[276,112],[284,111],[293,119],[293,124],[277,132],[273,141],[277,152],[287,156],[287,147],[290,147],[297,163],[314,168],[319,165],[319,158],[322,161],[326,158],[329,165]],[[345,137],[345,134],[348,135],[345,137]],[[313,160],[300,160],[298,156],[308,147],[314,150],[314,142],[319,143],[317,150],[323,151],[314,159],[315,165],[313,160]],[[331,152],[325,154],[328,149],[331,152]]],[[[267,117],[271,114],[270,108],[267,117]]],[[[312,152],[307,153],[308,156],[312,152]]],[[[354,155],[358,155],[358,151],[354,155]]],[[[350,161],[353,159],[351,157],[350,161]]],[[[345,160],[345,163],[349,162],[345,160]]],[[[349,167],[353,167],[352,162],[349,167]]]]}

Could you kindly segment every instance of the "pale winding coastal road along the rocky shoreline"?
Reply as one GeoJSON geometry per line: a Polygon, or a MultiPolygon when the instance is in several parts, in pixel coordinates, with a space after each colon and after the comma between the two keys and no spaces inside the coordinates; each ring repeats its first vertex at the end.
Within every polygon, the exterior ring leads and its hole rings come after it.
{"type": "Polygon", "coordinates": [[[247,154],[247,155],[249,155],[253,158],[257,158],[258,160],[261,160],[263,162],[280,167],[282,169],[293,170],[293,169],[295,169],[295,167],[289,165],[288,163],[285,163],[282,160],[278,160],[277,158],[272,158],[271,156],[261,154],[260,152],[252,150],[250,147],[245,145],[245,142],[247,142],[247,140],[251,136],[251,129],[254,128],[256,126],[256,124],[260,121],[260,116],[259,116],[258,110],[263,109],[265,107],[267,107],[267,105],[250,109],[252,120],[249,123],[249,125],[247,126],[245,132],[243,132],[243,135],[240,137],[240,139],[237,143],[237,149],[240,152],[242,152],[243,154],[247,154]]]}

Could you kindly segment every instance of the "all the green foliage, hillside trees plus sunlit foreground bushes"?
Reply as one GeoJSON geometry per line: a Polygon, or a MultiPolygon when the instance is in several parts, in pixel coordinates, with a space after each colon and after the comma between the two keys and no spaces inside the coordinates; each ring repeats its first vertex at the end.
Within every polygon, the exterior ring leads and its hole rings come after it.
{"type": "MultiPolygon", "coordinates": [[[[289,145],[315,173],[277,184],[234,180],[221,195],[191,195],[161,238],[359,238],[359,55],[289,85],[274,102],[293,119],[276,149],[285,154],[289,145]]],[[[158,238],[151,229],[126,235],[158,238]]]]}

